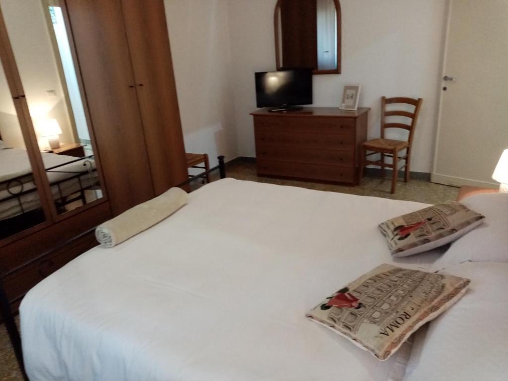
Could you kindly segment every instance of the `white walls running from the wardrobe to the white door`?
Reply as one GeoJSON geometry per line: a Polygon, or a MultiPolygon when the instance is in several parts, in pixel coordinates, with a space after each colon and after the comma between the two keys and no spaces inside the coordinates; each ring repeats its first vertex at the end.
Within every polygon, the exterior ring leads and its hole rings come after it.
{"type": "MultiPolygon", "coordinates": [[[[342,74],[314,76],[314,106],[361,84],[379,137],[382,96],[424,99],[411,170],[431,172],[448,0],[341,0],[342,74]]],[[[187,151],[255,156],[254,73],[275,70],[276,0],[166,0],[187,151]]]]}

